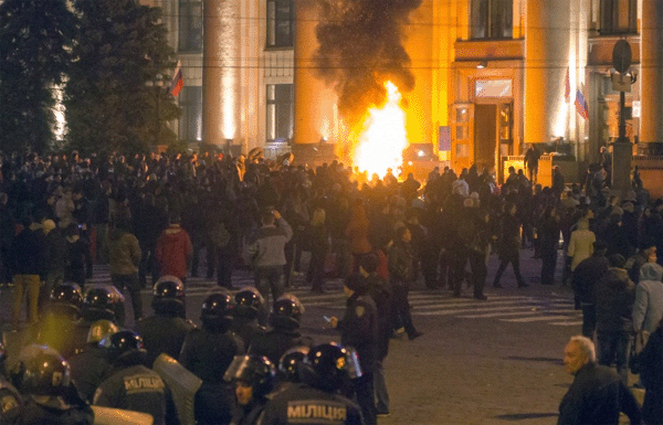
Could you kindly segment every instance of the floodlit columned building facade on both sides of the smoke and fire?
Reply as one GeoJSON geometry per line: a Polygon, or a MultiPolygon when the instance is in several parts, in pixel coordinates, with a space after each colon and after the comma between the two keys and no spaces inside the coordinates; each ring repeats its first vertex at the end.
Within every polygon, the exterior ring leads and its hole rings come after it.
{"type": "MultiPolygon", "coordinates": [[[[312,62],[317,2],[152,3],[182,62],[180,139],[242,151],[274,141],[347,144],[338,97],[312,62]]],[[[408,139],[431,144],[456,169],[497,167],[529,144],[596,161],[619,136],[618,40],[632,50],[625,105],[634,152],[663,141],[663,1],[422,0],[403,35],[415,82],[404,94],[408,139]]]]}

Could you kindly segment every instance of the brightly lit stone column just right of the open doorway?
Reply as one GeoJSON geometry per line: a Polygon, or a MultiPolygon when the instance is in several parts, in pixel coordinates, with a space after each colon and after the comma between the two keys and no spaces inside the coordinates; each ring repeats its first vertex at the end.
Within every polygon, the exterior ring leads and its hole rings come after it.
{"type": "Polygon", "coordinates": [[[527,0],[525,23],[525,144],[566,132],[565,75],[569,63],[569,0],[527,0]]]}

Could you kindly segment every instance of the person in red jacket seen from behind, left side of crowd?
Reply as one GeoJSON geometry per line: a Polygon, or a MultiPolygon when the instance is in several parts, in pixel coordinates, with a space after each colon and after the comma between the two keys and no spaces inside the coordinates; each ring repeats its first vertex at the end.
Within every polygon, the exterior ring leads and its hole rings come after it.
{"type": "Polygon", "coordinates": [[[160,275],[179,277],[186,284],[192,252],[191,238],[187,231],[180,227],[180,217],[171,215],[170,225],[161,232],[155,249],[160,275]]]}

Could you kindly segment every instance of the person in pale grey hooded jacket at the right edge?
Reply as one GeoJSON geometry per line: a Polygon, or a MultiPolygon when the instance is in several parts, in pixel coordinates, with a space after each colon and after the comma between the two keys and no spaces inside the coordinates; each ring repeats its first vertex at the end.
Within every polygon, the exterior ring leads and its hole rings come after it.
{"type": "Polygon", "coordinates": [[[663,267],[646,263],[640,268],[640,283],[635,287],[633,329],[652,333],[663,319],[663,267]]]}

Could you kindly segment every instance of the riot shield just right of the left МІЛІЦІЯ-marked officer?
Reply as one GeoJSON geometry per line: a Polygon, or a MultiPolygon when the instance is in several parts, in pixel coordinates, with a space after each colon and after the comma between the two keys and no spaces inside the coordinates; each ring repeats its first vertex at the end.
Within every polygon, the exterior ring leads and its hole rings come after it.
{"type": "Polygon", "coordinates": [[[196,425],[193,400],[196,392],[202,385],[202,380],[165,353],[159,354],[155,360],[152,370],[161,376],[170,389],[180,424],[196,425]]]}

